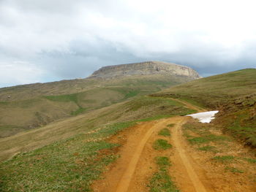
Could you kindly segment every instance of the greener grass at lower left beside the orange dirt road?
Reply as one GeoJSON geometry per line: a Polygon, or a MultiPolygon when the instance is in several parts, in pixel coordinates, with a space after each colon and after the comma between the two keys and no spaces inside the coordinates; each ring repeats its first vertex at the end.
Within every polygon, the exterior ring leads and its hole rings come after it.
{"type": "Polygon", "coordinates": [[[99,179],[105,166],[118,158],[113,153],[118,145],[102,139],[133,125],[114,123],[15,155],[0,164],[0,191],[91,191],[92,180],[99,179]]]}

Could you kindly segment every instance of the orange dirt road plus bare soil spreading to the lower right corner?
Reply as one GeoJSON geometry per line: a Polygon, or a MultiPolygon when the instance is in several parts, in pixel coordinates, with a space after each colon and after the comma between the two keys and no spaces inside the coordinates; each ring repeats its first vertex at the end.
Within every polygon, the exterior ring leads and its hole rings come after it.
{"type": "MultiPolygon", "coordinates": [[[[182,102],[182,101],[181,101],[182,102]]],[[[187,107],[204,111],[192,104],[187,107]]],[[[93,185],[94,191],[98,192],[138,192],[149,191],[148,183],[152,175],[157,172],[154,159],[157,156],[167,156],[173,166],[170,167],[170,175],[175,181],[178,189],[184,192],[211,192],[211,191],[234,191],[237,180],[223,181],[223,172],[217,172],[216,167],[211,167],[211,162],[204,161],[204,157],[196,150],[192,150],[182,133],[182,126],[190,120],[189,117],[176,116],[161,120],[140,123],[132,128],[127,128],[120,134],[112,137],[110,142],[121,143],[118,154],[120,158],[116,164],[108,167],[102,180],[97,180],[93,185]],[[171,137],[158,135],[159,130],[170,128],[171,137]],[[154,150],[152,145],[156,139],[167,139],[173,145],[170,150],[154,150]],[[202,164],[203,163],[203,164],[202,164]],[[210,164],[210,165],[209,165],[210,164]],[[208,168],[211,170],[208,171],[208,168]],[[233,184],[230,184],[233,182],[233,184]],[[231,187],[227,187],[226,184],[231,187]],[[233,186],[233,187],[232,187],[233,186]],[[227,188],[229,188],[227,190],[227,188]]],[[[240,150],[241,151],[241,150],[240,150]]],[[[228,175],[228,174],[227,174],[228,175]]],[[[240,183],[241,187],[245,186],[240,183]]],[[[253,183],[250,184],[253,186],[253,183]]],[[[246,190],[253,191],[253,190],[246,190]]]]}

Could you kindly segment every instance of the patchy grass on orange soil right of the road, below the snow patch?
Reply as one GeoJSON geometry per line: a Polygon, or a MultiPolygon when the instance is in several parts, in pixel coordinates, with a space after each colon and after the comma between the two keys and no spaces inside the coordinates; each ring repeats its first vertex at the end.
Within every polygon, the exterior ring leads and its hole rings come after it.
{"type": "Polygon", "coordinates": [[[236,174],[237,181],[248,177],[251,178],[250,182],[253,182],[256,170],[254,153],[242,150],[234,139],[222,134],[222,131],[218,130],[214,124],[190,120],[184,124],[183,132],[192,144],[191,147],[197,149],[198,153],[205,153],[200,154],[204,156],[201,162],[204,164],[208,162],[209,169],[223,174],[224,178],[230,177],[233,173],[236,174]]]}

